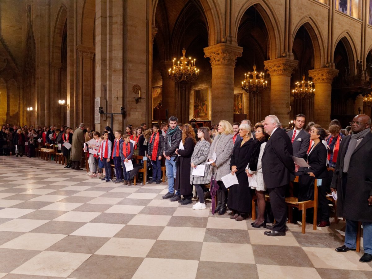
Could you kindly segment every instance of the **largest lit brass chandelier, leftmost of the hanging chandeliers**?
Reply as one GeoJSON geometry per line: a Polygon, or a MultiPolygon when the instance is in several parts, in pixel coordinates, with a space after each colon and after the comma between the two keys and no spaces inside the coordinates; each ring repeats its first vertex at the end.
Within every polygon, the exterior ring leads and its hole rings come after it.
{"type": "Polygon", "coordinates": [[[185,56],[186,49],[182,49],[182,55],[176,64],[176,58],[173,59],[173,66],[169,69],[169,77],[177,83],[185,82],[192,83],[199,77],[199,69],[195,66],[196,59],[192,60],[191,57],[185,56]]]}

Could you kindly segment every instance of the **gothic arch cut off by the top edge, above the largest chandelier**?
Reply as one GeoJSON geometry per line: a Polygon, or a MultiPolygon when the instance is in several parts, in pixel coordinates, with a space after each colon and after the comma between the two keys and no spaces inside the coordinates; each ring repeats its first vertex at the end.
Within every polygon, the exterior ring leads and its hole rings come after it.
{"type": "MultiPolygon", "coordinates": [[[[153,26],[155,26],[155,15],[156,7],[159,0],[155,0],[153,3],[153,26]]],[[[208,43],[209,45],[215,45],[221,42],[223,36],[223,24],[221,18],[221,9],[219,9],[218,3],[214,0],[198,0],[203,8],[203,13],[206,17],[206,23],[208,28],[208,43]]],[[[156,27],[156,26],[155,26],[156,27]]]]}

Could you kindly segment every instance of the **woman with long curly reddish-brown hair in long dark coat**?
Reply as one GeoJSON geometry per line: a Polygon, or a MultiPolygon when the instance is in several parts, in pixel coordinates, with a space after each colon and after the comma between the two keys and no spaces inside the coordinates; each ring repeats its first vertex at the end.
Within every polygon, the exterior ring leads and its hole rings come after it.
{"type": "Polygon", "coordinates": [[[190,165],[191,156],[196,144],[195,132],[190,124],[183,125],[182,128],[182,144],[184,149],[176,149],[176,154],[179,155],[176,162],[176,184],[174,190],[179,190],[183,198],[179,200],[181,205],[192,203],[192,184],[190,184],[190,165]]]}

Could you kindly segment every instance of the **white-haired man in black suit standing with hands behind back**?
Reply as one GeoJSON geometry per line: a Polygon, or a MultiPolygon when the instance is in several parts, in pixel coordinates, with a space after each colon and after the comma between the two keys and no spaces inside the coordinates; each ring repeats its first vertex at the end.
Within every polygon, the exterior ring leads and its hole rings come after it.
{"type": "Polygon", "coordinates": [[[287,207],[285,192],[289,186],[290,174],[295,171],[292,160],[292,143],[285,131],[280,129],[280,122],[275,115],[266,116],[264,129],[270,135],[262,156],[263,180],[269,191],[270,204],[276,220],[271,231],[265,235],[285,235],[287,207]]]}

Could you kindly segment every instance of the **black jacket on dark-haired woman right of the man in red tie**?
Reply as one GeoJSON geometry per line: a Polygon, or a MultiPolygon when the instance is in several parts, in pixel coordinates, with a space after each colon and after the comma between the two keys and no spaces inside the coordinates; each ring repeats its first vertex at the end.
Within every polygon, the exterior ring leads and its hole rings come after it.
{"type": "Polygon", "coordinates": [[[304,173],[314,173],[316,178],[328,178],[327,148],[323,142],[319,142],[312,148],[307,160],[310,168],[306,168],[304,173]]]}

